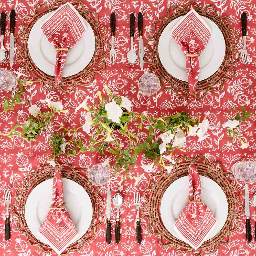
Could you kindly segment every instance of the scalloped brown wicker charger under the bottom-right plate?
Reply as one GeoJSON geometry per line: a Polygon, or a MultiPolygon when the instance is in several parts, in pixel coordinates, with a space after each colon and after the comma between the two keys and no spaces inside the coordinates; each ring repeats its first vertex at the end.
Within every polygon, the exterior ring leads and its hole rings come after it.
{"type": "Polygon", "coordinates": [[[163,172],[163,169],[161,169],[160,174],[154,174],[150,177],[149,187],[144,191],[146,203],[142,209],[142,215],[148,219],[149,232],[158,235],[159,244],[161,246],[172,246],[178,254],[185,254],[188,251],[190,251],[192,255],[214,253],[220,244],[225,245],[230,242],[231,234],[240,226],[238,217],[243,213],[243,206],[239,202],[241,194],[241,190],[234,186],[233,174],[224,172],[221,163],[217,161],[209,163],[208,160],[201,155],[198,155],[193,160],[186,156],[180,156],[170,174],[168,174],[168,172],[163,172]],[[200,158],[202,158],[203,161],[200,161],[199,163],[200,158]],[[178,161],[182,159],[183,162],[184,159],[186,162],[178,163],[178,161]],[[187,243],[170,234],[164,226],[160,214],[160,205],[164,192],[175,180],[188,175],[188,166],[190,163],[196,165],[200,175],[214,180],[222,188],[228,201],[228,217],[225,225],[215,237],[205,241],[197,251],[187,243]],[[226,175],[231,177],[231,182],[229,182],[226,175]],[[242,209],[241,212],[238,212],[238,205],[242,209]],[[228,240],[225,241],[225,239],[228,240]]]}

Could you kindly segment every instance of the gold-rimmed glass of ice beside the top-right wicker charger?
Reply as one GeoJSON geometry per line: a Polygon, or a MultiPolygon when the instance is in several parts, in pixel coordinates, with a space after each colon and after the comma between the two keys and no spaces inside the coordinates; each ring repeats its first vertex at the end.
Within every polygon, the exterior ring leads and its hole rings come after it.
{"type": "Polygon", "coordinates": [[[138,87],[143,95],[151,96],[159,89],[160,80],[153,73],[145,73],[140,77],[138,87]]]}

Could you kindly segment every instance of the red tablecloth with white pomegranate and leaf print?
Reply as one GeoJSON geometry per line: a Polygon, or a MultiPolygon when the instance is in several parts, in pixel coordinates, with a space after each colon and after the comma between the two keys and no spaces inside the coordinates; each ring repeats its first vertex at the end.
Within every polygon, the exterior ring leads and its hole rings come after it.
{"type": "MultiPolygon", "coordinates": [[[[26,15],[32,15],[38,3],[44,2],[51,4],[52,0],[2,0],[0,2],[1,11],[6,12],[6,30],[4,45],[9,49],[9,20],[10,10],[16,10],[16,30],[15,35],[20,29],[22,18],[26,15]]],[[[205,155],[210,161],[220,161],[224,170],[231,170],[231,166],[241,159],[256,161],[256,121],[255,118],[250,118],[248,121],[241,125],[241,132],[243,140],[249,142],[250,146],[242,150],[240,143],[236,142],[233,145],[228,145],[228,136],[226,129],[222,129],[222,123],[226,122],[231,117],[231,107],[241,108],[245,106],[246,109],[254,113],[256,105],[255,93],[255,43],[256,38],[256,13],[255,2],[253,0],[206,0],[197,1],[203,7],[206,4],[212,4],[218,10],[218,15],[225,15],[229,17],[232,29],[241,33],[241,18],[240,15],[243,11],[247,13],[247,49],[252,58],[252,63],[248,66],[242,65],[239,61],[236,65],[236,75],[232,80],[225,81],[225,87],[220,92],[209,92],[203,99],[195,99],[191,96],[187,98],[178,97],[172,90],[164,91],[159,90],[151,97],[142,96],[137,87],[139,77],[149,70],[149,65],[144,64],[144,71],[140,71],[139,62],[135,65],[129,65],[126,59],[126,52],[130,49],[130,36],[129,36],[129,14],[134,12],[136,15],[139,11],[143,13],[143,36],[149,38],[152,34],[152,23],[155,19],[164,17],[166,10],[169,6],[185,6],[188,0],[145,0],[145,1],[131,1],[131,0],[83,0],[84,4],[90,10],[96,10],[99,14],[100,22],[109,27],[110,14],[114,10],[116,13],[116,31],[115,31],[115,47],[117,49],[117,65],[110,66],[109,57],[107,56],[107,66],[104,72],[95,74],[93,82],[86,87],[77,87],[71,93],[63,94],[60,91],[44,91],[39,83],[33,83],[26,86],[26,100],[28,104],[18,105],[14,111],[9,111],[0,116],[0,131],[8,132],[10,127],[15,123],[23,124],[28,118],[28,107],[31,104],[36,104],[44,109],[45,106],[39,103],[40,99],[45,99],[49,94],[55,97],[56,100],[62,100],[65,109],[69,110],[69,115],[60,114],[53,120],[54,124],[64,124],[67,127],[74,127],[76,124],[83,124],[85,122],[84,113],[75,113],[74,109],[81,103],[87,95],[91,97],[91,102],[98,101],[95,97],[97,91],[102,90],[102,94],[106,95],[103,85],[106,84],[114,93],[120,95],[127,95],[133,103],[132,110],[138,113],[145,113],[154,115],[155,117],[172,114],[176,111],[187,110],[193,116],[201,116],[201,120],[208,119],[210,122],[210,135],[202,143],[197,143],[196,138],[189,137],[186,144],[186,155],[194,157],[197,154],[205,155]]],[[[108,40],[110,40],[110,28],[108,40]]],[[[144,40],[145,42],[145,40],[144,40]]],[[[138,49],[138,29],[135,25],[135,48],[138,49]]],[[[242,48],[242,40],[238,44],[238,48],[242,48]]],[[[17,49],[16,49],[17,52],[17,49]]],[[[13,68],[10,69],[9,59],[0,63],[0,67],[7,67],[9,70],[23,72],[23,68],[17,65],[14,59],[13,68]]],[[[7,96],[7,93],[0,94],[0,105],[7,96]]],[[[1,106],[2,107],[2,106],[1,106]]],[[[233,113],[234,114],[234,113],[233,113]]],[[[232,116],[233,116],[232,114],[232,116]]],[[[53,128],[55,129],[55,128],[53,128]]],[[[136,127],[130,127],[136,129],[136,127]]],[[[146,135],[138,131],[141,138],[146,135]]],[[[84,134],[86,140],[89,139],[87,134],[84,134]]],[[[28,244],[25,236],[17,232],[16,222],[11,219],[11,238],[8,242],[4,239],[4,221],[5,221],[5,206],[4,206],[4,188],[9,188],[12,193],[12,203],[15,198],[15,191],[21,184],[22,179],[28,173],[34,172],[36,167],[41,164],[47,164],[47,153],[50,152],[48,146],[49,134],[45,133],[37,140],[28,144],[20,140],[9,139],[0,137],[0,252],[1,255],[44,255],[36,246],[28,244]]],[[[125,148],[125,142],[123,147],[125,148]]],[[[180,155],[180,152],[175,151],[175,156],[180,155]]],[[[76,168],[89,168],[93,164],[103,162],[108,156],[99,156],[95,153],[82,153],[77,157],[67,158],[59,157],[59,163],[68,163],[76,168]]],[[[121,240],[118,245],[113,241],[114,238],[114,218],[116,216],[116,209],[112,207],[112,243],[108,245],[105,239],[106,233],[106,216],[105,216],[105,198],[106,186],[101,188],[101,195],[104,199],[104,206],[102,214],[104,221],[101,227],[98,228],[96,238],[87,243],[82,251],[74,252],[73,255],[104,255],[104,256],[123,256],[123,255],[166,255],[174,256],[177,254],[173,248],[163,248],[158,245],[158,237],[151,235],[147,230],[147,221],[141,217],[142,223],[142,237],[143,242],[138,245],[136,242],[136,209],[133,206],[133,192],[137,189],[141,195],[143,190],[148,186],[148,179],[152,173],[156,173],[157,169],[154,168],[148,172],[141,168],[141,164],[147,163],[147,160],[142,156],[137,157],[135,163],[134,175],[141,175],[144,173],[142,180],[138,186],[134,186],[134,180],[125,180],[121,186],[118,185],[119,179],[111,178],[111,190],[119,191],[124,197],[124,205],[120,208],[120,226],[121,226],[121,240]]],[[[236,180],[236,184],[242,189],[241,200],[244,203],[244,182],[236,180]]],[[[256,191],[256,186],[249,185],[250,199],[256,191]]],[[[246,256],[254,255],[256,244],[254,240],[255,232],[255,207],[252,202],[251,206],[251,225],[253,239],[251,243],[246,242],[245,230],[245,214],[240,217],[241,227],[233,234],[231,242],[226,246],[219,246],[218,250],[209,255],[236,255],[246,256]]],[[[10,214],[12,218],[13,215],[10,214]]]]}

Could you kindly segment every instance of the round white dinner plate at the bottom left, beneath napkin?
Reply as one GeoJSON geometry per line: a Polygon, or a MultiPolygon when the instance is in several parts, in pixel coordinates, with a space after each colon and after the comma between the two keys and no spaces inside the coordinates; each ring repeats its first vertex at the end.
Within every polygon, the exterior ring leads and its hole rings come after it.
{"type": "MultiPolygon", "coordinates": [[[[92,221],[92,202],[86,190],[73,180],[62,178],[66,209],[77,228],[76,241],[88,230],[92,221]]],[[[52,204],[52,182],[47,179],[38,184],[28,196],[25,205],[25,219],[31,233],[41,242],[47,243],[38,234],[52,204]]],[[[75,241],[74,241],[75,242],[75,241]]]]}

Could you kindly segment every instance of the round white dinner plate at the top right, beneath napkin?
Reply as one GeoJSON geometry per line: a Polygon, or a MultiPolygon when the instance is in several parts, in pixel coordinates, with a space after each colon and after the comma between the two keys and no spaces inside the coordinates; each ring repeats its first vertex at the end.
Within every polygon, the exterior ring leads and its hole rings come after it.
{"type": "MultiPolygon", "coordinates": [[[[212,76],[218,70],[226,52],[225,39],[218,26],[210,19],[201,17],[209,25],[211,37],[199,56],[199,81],[212,76]]],[[[158,42],[158,54],[161,63],[170,75],[179,80],[188,81],[185,55],[170,35],[170,31],[180,19],[182,17],[174,19],[163,30],[158,42]]]]}

